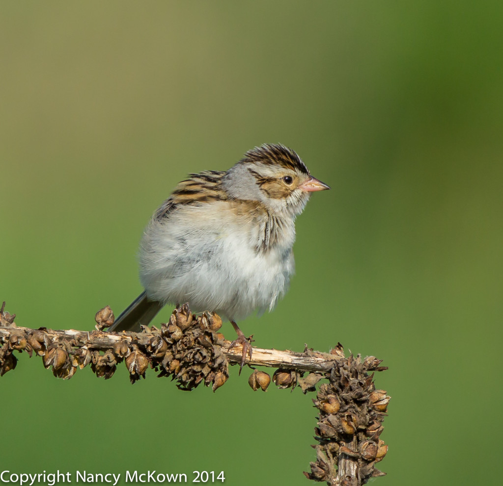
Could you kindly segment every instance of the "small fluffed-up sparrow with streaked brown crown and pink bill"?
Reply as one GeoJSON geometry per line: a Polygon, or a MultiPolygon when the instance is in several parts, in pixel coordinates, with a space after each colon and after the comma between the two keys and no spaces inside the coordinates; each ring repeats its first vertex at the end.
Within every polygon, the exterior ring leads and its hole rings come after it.
{"type": "Polygon", "coordinates": [[[314,191],[329,186],[310,175],[282,144],[248,150],[227,171],[189,174],[153,214],[138,252],[144,291],[109,331],[148,325],[166,304],[226,317],[251,359],[251,336],[237,320],[272,311],[295,270],[295,218],[314,191]]]}

